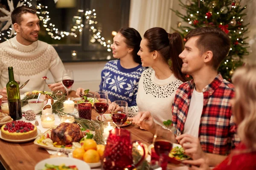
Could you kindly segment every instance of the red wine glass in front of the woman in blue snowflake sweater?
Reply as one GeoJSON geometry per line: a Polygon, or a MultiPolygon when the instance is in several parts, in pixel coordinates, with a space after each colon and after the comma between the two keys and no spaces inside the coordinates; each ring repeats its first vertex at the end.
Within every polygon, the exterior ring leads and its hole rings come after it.
{"type": "Polygon", "coordinates": [[[102,121],[102,114],[108,110],[108,93],[106,91],[96,91],[94,94],[94,109],[100,115],[102,121]]]}

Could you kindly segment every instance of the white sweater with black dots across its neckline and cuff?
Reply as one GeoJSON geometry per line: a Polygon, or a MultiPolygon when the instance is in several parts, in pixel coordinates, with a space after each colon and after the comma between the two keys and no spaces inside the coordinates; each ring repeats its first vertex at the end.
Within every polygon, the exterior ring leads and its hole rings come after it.
{"type": "Polygon", "coordinates": [[[136,116],[138,111],[150,111],[154,121],[163,126],[163,121],[172,119],[172,103],[182,83],[174,74],[160,80],[152,68],[146,69],[139,81],[137,106],[128,108],[128,117],[136,116]]]}

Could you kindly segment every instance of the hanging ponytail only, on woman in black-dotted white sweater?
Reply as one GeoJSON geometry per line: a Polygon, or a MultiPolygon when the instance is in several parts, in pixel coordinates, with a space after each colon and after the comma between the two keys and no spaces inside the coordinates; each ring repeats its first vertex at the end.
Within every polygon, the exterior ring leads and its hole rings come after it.
{"type": "Polygon", "coordinates": [[[171,70],[175,76],[183,82],[186,82],[186,75],[181,72],[182,59],[179,55],[184,49],[183,40],[179,33],[175,32],[168,34],[169,44],[170,44],[170,57],[172,61],[171,70]]]}

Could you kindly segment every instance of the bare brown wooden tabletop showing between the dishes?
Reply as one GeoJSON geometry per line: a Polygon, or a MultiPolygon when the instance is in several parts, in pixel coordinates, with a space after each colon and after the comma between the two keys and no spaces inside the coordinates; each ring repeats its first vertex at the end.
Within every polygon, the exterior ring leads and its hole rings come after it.
{"type": "MultiPolygon", "coordinates": [[[[92,119],[95,120],[99,114],[92,111],[92,119]]],[[[124,127],[131,132],[131,139],[139,140],[147,146],[152,143],[153,134],[146,130],[141,130],[136,125],[124,127]]],[[[0,139],[0,161],[6,170],[34,170],[35,165],[49,158],[49,153],[44,149],[31,142],[11,143],[0,139]]],[[[176,165],[169,165],[177,167],[176,165]]]]}

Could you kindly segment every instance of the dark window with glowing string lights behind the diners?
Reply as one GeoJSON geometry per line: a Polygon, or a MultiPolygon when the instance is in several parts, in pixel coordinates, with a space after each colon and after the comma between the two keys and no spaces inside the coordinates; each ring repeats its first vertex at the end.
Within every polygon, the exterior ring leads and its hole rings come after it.
{"type": "MultiPolygon", "coordinates": [[[[130,0],[55,1],[30,1],[41,20],[39,40],[52,44],[63,62],[111,59],[112,31],[128,26],[130,0]]],[[[13,2],[16,7],[19,0],[13,2]]],[[[7,0],[0,1],[0,7],[9,11],[7,0]]]]}

